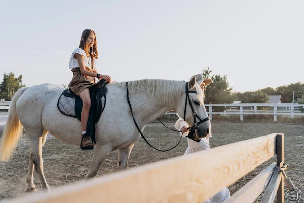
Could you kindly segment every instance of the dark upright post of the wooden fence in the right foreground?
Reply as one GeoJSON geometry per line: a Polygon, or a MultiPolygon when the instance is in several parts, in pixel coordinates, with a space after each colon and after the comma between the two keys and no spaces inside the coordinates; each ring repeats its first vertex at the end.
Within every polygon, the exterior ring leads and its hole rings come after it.
{"type": "MultiPolygon", "coordinates": [[[[284,163],[284,134],[277,134],[277,166],[280,168],[284,163]]],[[[282,176],[278,191],[277,191],[277,202],[284,203],[284,176],[282,176]]]]}

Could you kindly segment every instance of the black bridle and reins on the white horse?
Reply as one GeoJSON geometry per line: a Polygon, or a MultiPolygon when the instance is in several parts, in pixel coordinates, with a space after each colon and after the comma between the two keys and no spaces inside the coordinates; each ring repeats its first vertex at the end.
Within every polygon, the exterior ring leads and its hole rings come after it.
{"type": "MultiPolygon", "coordinates": [[[[184,111],[184,117],[183,117],[183,119],[185,120],[185,118],[186,118],[187,101],[188,101],[188,102],[189,102],[189,105],[190,105],[190,107],[191,107],[191,110],[192,110],[192,115],[193,115],[194,123],[193,123],[193,126],[192,126],[192,127],[187,128],[187,130],[190,131],[187,137],[190,138],[190,139],[193,139],[192,137],[193,137],[193,135],[194,135],[194,133],[195,133],[195,130],[199,127],[199,125],[200,125],[201,123],[204,123],[204,122],[208,121],[208,120],[209,120],[209,117],[207,117],[207,118],[205,118],[205,119],[202,120],[202,119],[197,115],[197,113],[194,111],[194,108],[193,108],[193,106],[192,106],[191,99],[190,99],[190,97],[189,97],[189,93],[197,93],[197,92],[196,92],[196,91],[189,91],[189,85],[188,85],[188,84],[189,84],[189,82],[186,82],[186,91],[185,91],[185,93],[186,93],[186,102],[185,102],[185,111],[184,111]],[[198,119],[200,120],[198,123],[196,122],[196,118],[198,118],[198,119]]],[[[178,142],[174,147],[172,147],[171,149],[167,149],[167,150],[160,150],[160,149],[157,149],[157,148],[153,147],[153,146],[147,141],[147,139],[143,136],[143,133],[142,133],[141,130],[139,129],[139,127],[138,127],[138,125],[137,125],[137,123],[136,123],[136,121],[135,121],[134,115],[133,115],[132,106],[131,106],[130,99],[129,99],[128,82],[126,83],[126,87],[127,87],[127,101],[128,101],[128,104],[129,104],[129,107],[130,107],[130,110],[131,110],[131,114],[132,114],[133,121],[134,121],[134,124],[135,124],[135,126],[136,126],[138,132],[141,134],[141,137],[144,139],[144,141],[145,141],[151,148],[156,149],[156,150],[161,151],[161,152],[167,152],[167,151],[172,150],[172,149],[174,149],[175,147],[177,147],[177,145],[178,145],[178,144],[180,143],[180,141],[181,141],[182,136],[180,137],[179,142],[178,142]]],[[[160,121],[160,122],[161,122],[161,121],[160,121]]],[[[161,123],[162,123],[162,122],[161,122],[161,123]]],[[[165,126],[164,123],[162,123],[162,124],[165,126]]],[[[165,127],[167,127],[167,126],[165,126],[165,127]]],[[[168,129],[171,129],[171,128],[169,128],[169,127],[167,127],[167,128],[168,128],[168,129]]],[[[174,130],[174,129],[171,129],[171,130],[181,132],[181,131],[179,131],[179,130],[174,130]]]]}

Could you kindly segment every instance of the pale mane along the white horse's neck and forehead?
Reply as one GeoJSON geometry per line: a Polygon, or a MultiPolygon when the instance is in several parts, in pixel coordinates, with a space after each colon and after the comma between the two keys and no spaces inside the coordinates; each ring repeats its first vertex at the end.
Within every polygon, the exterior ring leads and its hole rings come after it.
{"type": "MultiPolygon", "coordinates": [[[[110,84],[126,90],[126,82],[115,82],[110,84]]],[[[203,99],[203,93],[200,90],[201,88],[199,85],[196,84],[195,88],[198,92],[198,98],[203,99]]],[[[156,99],[160,105],[174,105],[179,101],[181,94],[185,92],[185,82],[163,79],[143,79],[129,81],[128,89],[130,95],[139,93],[146,94],[147,96],[156,99]]]]}

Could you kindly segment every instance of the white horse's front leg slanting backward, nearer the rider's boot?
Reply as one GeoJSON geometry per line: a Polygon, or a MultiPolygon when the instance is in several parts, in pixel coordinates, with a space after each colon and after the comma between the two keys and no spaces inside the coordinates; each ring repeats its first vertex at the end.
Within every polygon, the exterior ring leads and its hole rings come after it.
{"type": "Polygon", "coordinates": [[[109,145],[98,145],[95,147],[93,159],[91,161],[91,165],[87,174],[86,179],[94,178],[104,161],[104,159],[109,155],[112,151],[112,147],[109,145]]]}

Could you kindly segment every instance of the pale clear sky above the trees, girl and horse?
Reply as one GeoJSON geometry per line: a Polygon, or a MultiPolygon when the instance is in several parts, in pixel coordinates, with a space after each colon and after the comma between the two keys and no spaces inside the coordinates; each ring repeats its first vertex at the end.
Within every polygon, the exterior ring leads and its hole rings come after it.
{"type": "Polygon", "coordinates": [[[304,1],[2,1],[0,82],[68,84],[72,51],[96,32],[114,81],[188,80],[210,67],[234,91],[304,82],[304,1]]]}

